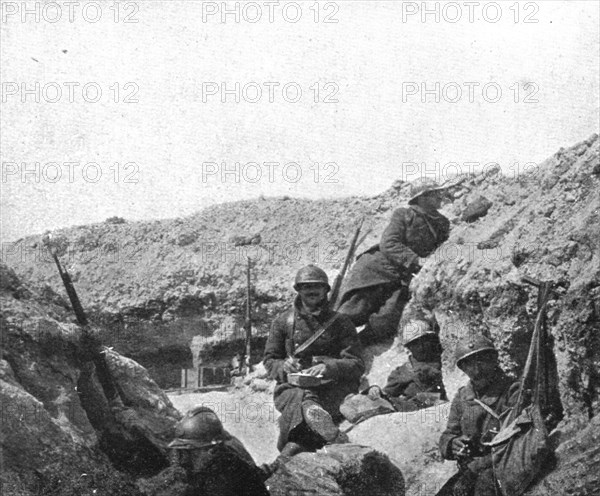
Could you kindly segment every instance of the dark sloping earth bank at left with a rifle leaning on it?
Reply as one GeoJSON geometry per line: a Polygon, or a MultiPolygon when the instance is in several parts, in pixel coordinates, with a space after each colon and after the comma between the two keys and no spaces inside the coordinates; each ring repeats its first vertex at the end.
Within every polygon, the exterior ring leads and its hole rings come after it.
{"type": "Polygon", "coordinates": [[[122,399],[109,404],[81,329],[0,271],[3,494],[138,494],[131,476],[166,464],[178,412],[142,367],[107,350],[122,399]]]}

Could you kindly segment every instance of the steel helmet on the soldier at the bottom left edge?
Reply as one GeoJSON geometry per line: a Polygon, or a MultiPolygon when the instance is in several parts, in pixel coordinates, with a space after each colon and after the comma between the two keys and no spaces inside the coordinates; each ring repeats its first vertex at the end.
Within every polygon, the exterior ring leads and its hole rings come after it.
{"type": "Polygon", "coordinates": [[[199,406],[185,414],[175,426],[174,449],[195,449],[212,446],[230,439],[223,424],[210,408],[199,406]]]}

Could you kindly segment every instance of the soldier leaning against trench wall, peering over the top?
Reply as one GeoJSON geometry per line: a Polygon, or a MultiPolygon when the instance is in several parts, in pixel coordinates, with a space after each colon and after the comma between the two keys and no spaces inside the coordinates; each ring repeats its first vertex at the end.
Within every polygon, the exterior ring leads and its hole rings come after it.
{"type": "Polygon", "coordinates": [[[408,208],[397,209],[379,244],[359,255],[338,308],[360,333],[363,344],[392,336],[408,301],[408,285],[427,257],[448,239],[450,221],[438,209],[446,189],[414,184],[408,208]]]}

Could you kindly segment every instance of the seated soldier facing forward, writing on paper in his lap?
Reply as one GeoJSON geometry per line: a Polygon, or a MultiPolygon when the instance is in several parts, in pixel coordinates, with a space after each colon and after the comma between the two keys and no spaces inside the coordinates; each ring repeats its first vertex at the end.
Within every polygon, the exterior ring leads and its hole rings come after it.
{"type": "Polygon", "coordinates": [[[277,448],[284,458],[340,440],[339,407],[347,394],[358,391],[364,371],[356,328],[348,317],[329,308],[327,274],[308,265],[298,271],[294,289],[298,296],[274,320],[264,354],[265,367],[277,381],[274,400],[281,412],[277,448]],[[325,332],[293,358],[298,347],[322,328],[325,332]],[[301,370],[321,377],[323,384],[291,385],[287,375],[301,370]]]}

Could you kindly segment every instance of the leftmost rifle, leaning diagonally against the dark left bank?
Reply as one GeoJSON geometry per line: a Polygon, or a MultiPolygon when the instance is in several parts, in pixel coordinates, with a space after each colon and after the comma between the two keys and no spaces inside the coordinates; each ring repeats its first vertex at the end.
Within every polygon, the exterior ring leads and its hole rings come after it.
{"type": "Polygon", "coordinates": [[[49,235],[46,235],[42,238],[42,243],[48,249],[48,252],[54,259],[54,263],[56,263],[58,273],[60,274],[60,278],[62,279],[65,290],[67,291],[67,295],[69,296],[71,306],[75,312],[77,323],[81,327],[83,348],[86,353],[89,353],[91,359],[90,361],[92,361],[96,366],[98,380],[100,381],[104,395],[109,403],[111,401],[119,400],[119,392],[112,380],[108,365],[106,364],[106,358],[104,356],[104,351],[102,350],[102,345],[100,344],[98,338],[92,334],[89,328],[87,315],[83,310],[79,296],[77,296],[77,291],[75,291],[75,286],[73,286],[71,275],[67,269],[63,269],[60,260],[58,259],[58,255],[56,254],[56,248],[52,246],[49,235]]]}

